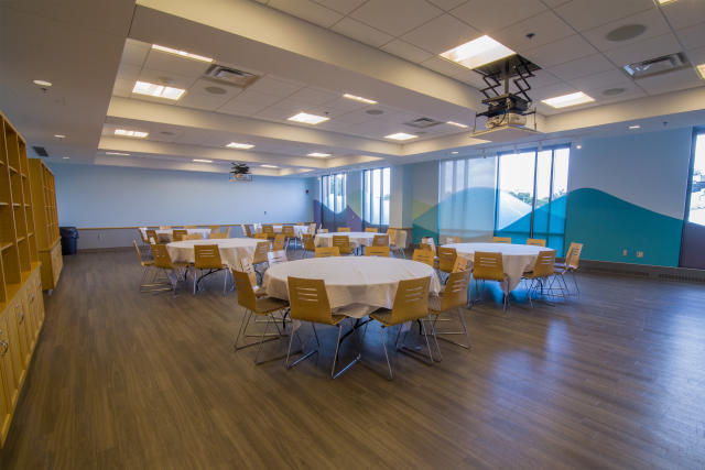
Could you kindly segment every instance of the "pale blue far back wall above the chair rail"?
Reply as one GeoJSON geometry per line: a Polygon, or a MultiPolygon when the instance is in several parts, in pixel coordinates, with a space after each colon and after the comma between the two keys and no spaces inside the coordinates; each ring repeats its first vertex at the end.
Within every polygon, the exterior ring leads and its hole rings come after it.
{"type": "Polygon", "coordinates": [[[51,170],[62,226],[313,220],[313,186],[305,178],[254,176],[251,183],[230,183],[227,174],[216,173],[79,164],[51,170]]]}

